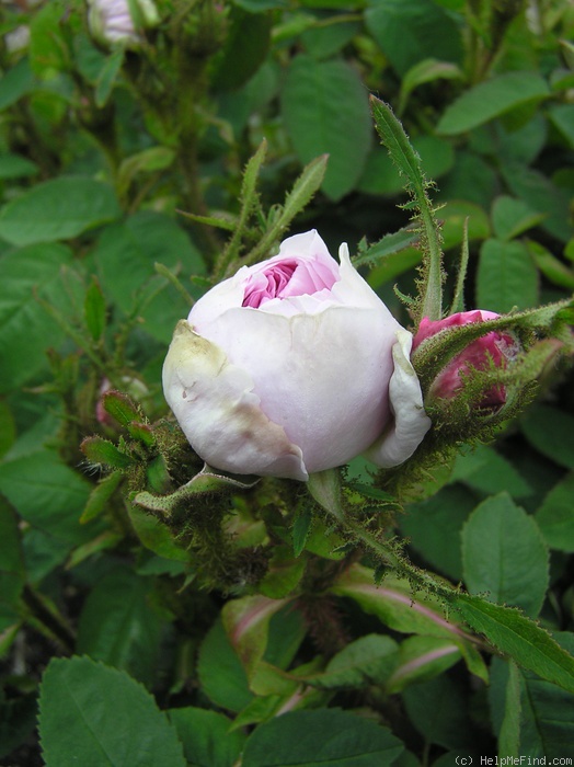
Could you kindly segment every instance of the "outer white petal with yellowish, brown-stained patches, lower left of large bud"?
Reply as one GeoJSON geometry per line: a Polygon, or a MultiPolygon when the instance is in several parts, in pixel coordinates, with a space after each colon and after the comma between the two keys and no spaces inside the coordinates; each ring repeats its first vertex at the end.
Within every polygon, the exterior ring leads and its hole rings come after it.
{"type": "Polygon", "coordinates": [[[238,474],[309,478],[301,449],[269,421],[246,370],[185,320],[175,328],[163,364],[163,393],[196,453],[238,474]]]}

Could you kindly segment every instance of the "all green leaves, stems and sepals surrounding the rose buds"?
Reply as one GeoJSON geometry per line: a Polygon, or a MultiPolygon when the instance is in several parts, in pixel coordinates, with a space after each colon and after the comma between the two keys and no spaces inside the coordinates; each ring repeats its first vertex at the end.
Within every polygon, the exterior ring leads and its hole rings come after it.
{"type": "Polygon", "coordinates": [[[111,45],[0,10],[0,760],[573,756],[572,8],[129,5],[111,45]],[[424,342],[398,469],[204,466],[173,328],[315,227],[404,327],[497,311],[524,353],[433,400],[485,330],[424,342]]]}

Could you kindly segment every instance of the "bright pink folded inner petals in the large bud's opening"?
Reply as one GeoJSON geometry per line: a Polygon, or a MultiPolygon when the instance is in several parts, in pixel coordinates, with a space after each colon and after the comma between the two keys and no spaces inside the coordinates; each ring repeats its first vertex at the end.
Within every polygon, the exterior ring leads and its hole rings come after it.
{"type": "Polygon", "coordinates": [[[318,262],[279,261],[249,275],[242,306],[259,309],[273,298],[312,295],[331,288],[335,282],[336,276],[318,262]]]}

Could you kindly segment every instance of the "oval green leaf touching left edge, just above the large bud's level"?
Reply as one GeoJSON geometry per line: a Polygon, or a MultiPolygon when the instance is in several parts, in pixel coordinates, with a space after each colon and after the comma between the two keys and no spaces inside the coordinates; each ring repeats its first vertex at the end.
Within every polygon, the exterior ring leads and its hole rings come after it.
{"type": "Polygon", "coordinates": [[[0,213],[0,237],[14,245],[69,240],[119,216],[112,186],[60,176],[8,203],[0,213]]]}

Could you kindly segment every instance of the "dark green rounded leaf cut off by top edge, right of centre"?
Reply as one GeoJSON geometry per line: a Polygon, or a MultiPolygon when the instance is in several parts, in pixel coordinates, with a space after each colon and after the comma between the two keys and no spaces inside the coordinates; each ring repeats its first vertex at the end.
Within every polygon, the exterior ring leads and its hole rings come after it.
{"type": "Polygon", "coordinates": [[[370,0],[367,28],[401,77],[424,59],[460,64],[462,41],[452,15],[431,0],[370,0]]]}

